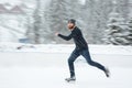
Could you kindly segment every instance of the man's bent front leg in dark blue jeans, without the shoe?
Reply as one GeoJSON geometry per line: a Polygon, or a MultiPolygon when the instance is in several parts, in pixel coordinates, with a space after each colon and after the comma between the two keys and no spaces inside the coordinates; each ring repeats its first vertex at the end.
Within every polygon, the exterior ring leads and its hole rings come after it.
{"type": "Polygon", "coordinates": [[[70,78],[75,77],[75,68],[74,68],[74,62],[75,59],[79,56],[79,53],[74,51],[72,55],[68,58],[68,66],[69,66],[69,72],[70,72],[70,78]]]}

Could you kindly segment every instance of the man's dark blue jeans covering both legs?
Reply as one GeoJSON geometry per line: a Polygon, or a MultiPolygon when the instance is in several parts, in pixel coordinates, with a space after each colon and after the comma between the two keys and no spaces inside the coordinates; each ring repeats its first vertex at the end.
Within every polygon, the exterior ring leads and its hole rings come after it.
{"type": "Polygon", "coordinates": [[[86,58],[86,61],[87,61],[87,63],[89,65],[95,66],[95,67],[97,67],[97,68],[99,68],[99,69],[101,69],[103,72],[106,70],[105,66],[102,66],[101,64],[99,64],[97,62],[91,61],[91,57],[90,57],[90,54],[89,54],[88,50],[84,50],[84,51],[80,51],[80,52],[78,52],[77,50],[75,50],[72,53],[72,55],[69,56],[69,58],[68,58],[68,66],[69,66],[69,70],[70,70],[70,77],[75,76],[74,62],[80,55],[82,55],[86,58]]]}

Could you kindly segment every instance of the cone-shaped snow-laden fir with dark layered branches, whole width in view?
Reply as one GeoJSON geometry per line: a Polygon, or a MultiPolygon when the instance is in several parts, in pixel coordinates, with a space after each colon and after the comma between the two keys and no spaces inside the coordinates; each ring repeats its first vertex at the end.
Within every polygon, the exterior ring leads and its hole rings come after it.
{"type": "Polygon", "coordinates": [[[110,13],[108,30],[106,33],[106,42],[113,45],[129,45],[129,28],[124,23],[124,19],[117,12],[117,2],[113,3],[113,11],[110,13]]]}

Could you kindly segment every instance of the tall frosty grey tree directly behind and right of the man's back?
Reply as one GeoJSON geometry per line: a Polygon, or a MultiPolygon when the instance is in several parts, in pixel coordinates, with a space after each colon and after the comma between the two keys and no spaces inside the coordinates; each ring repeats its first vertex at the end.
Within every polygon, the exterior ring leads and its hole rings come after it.
{"type": "Polygon", "coordinates": [[[89,43],[102,43],[103,29],[110,11],[111,0],[86,0],[81,16],[85,36],[89,43]]]}

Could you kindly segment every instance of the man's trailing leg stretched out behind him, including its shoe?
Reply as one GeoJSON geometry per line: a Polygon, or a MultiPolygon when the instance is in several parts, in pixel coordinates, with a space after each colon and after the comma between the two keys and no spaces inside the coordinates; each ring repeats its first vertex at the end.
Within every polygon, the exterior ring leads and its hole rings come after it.
{"type": "Polygon", "coordinates": [[[89,65],[95,66],[95,67],[103,70],[106,76],[109,77],[109,70],[106,69],[105,66],[102,66],[101,64],[99,64],[97,62],[91,61],[91,57],[90,57],[90,54],[89,54],[88,50],[82,51],[81,55],[86,58],[86,61],[88,62],[89,65]]]}

